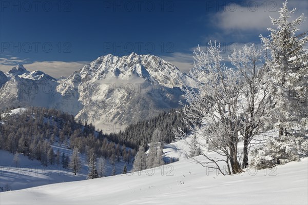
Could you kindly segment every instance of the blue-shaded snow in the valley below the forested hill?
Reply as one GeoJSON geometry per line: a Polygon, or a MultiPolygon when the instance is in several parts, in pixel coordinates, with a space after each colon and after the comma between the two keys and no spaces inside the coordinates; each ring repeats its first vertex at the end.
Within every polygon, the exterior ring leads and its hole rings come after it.
{"type": "MultiPolygon", "coordinates": [[[[60,154],[72,155],[72,150],[57,144],[52,145],[54,152],[59,149],[60,154]]],[[[13,162],[14,155],[4,150],[0,150],[0,187],[9,187],[9,190],[20,190],[30,187],[49,185],[51,183],[85,180],[88,174],[88,165],[85,154],[80,154],[82,168],[75,176],[70,170],[64,169],[61,165],[42,166],[38,160],[30,160],[27,156],[19,154],[20,162],[18,167],[13,162]]],[[[125,162],[115,162],[115,171],[122,173],[125,162]]],[[[132,168],[131,163],[127,165],[127,170],[132,168]]],[[[110,176],[112,166],[106,160],[105,176],[110,176]]]]}

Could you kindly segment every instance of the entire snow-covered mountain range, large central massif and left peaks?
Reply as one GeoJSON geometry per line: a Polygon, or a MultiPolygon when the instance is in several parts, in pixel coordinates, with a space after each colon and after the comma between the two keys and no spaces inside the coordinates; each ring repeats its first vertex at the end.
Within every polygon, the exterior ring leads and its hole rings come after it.
{"type": "Polygon", "coordinates": [[[153,55],[101,56],[68,78],[55,79],[22,65],[0,73],[0,104],[43,106],[111,132],[122,125],[176,108],[181,87],[194,81],[153,55]]]}

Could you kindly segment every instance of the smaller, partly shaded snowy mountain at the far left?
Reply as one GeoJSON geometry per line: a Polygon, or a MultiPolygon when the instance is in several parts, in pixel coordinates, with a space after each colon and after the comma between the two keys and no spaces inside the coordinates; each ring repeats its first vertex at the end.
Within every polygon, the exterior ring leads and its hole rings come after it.
{"type": "Polygon", "coordinates": [[[1,108],[12,106],[48,107],[54,100],[55,78],[41,71],[27,71],[23,65],[12,68],[6,74],[0,73],[1,108]]]}

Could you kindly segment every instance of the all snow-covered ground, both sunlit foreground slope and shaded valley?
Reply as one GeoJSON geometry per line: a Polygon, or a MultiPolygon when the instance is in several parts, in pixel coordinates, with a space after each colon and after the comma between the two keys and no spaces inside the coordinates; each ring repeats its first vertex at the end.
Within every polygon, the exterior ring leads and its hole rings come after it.
{"type": "MultiPolygon", "coordinates": [[[[266,135],[275,136],[271,132],[266,135]],[[271,134],[272,133],[272,134],[271,134]]],[[[262,136],[260,136],[261,138],[262,136]]],[[[202,139],[201,139],[202,140],[202,139]]],[[[308,203],[308,158],[290,162],[272,170],[248,169],[237,175],[223,176],[217,170],[204,168],[191,159],[186,159],[189,146],[180,140],[165,144],[164,159],[180,161],[146,171],[82,180],[87,167],[83,166],[78,176],[61,171],[44,171],[39,161],[21,156],[21,167],[37,166],[34,173],[12,170],[11,153],[1,151],[1,185],[9,183],[12,190],[0,193],[0,204],[307,204],[308,203]],[[11,165],[4,166],[4,165],[11,165]],[[19,173],[19,175],[18,175],[19,173]],[[22,174],[21,174],[22,173],[22,174]],[[36,174],[37,173],[37,174],[36,174]],[[82,181],[76,181],[82,180],[82,181]],[[62,181],[73,181],[57,183],[62,181]],[[49,183],[53,183],[47,185],[49,183]],[[18,196],[18,197],[16,197],[18,196]]],[[[239,148],[242,143],[239,144],[239,148]]],[[[60,152],[71,155],[71,150],[53,145],[60,152]]],[[[217,156],[217,153],[208,153],[217,156]]],[[[81,155],[83,161],[85,156],[81,155]]],[[[203,156],[195,157],[204,160],[203,156]]],[[[118,170],[121,170],[117,164],[118,170]]],[[[109,166],[111,172],[111,166],[109,166]]],[[[131,166],[129,166],[129,170],[131,166]]],[[[31,170],[33,172],[33,170],[31,170]]],[[[119,172],[118,172],[119,173],[119,172]]]]}

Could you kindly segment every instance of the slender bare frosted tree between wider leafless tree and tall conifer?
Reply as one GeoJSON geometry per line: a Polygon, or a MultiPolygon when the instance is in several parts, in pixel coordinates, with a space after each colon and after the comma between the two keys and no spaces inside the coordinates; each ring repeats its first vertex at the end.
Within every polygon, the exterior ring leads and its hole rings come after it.
{"type": "Polygon", "coordinates": [[[264,52],[256,46],[244,45],[229,57],[232,65],[239,71],[239,83],[242,92],[239,98],[241,112],[241,129],[243,136],[242,168],[248,166],[248,150],[251,141],[263,131],[268,114],[268,86],[266,85],[267,67],[264,52]]]}

